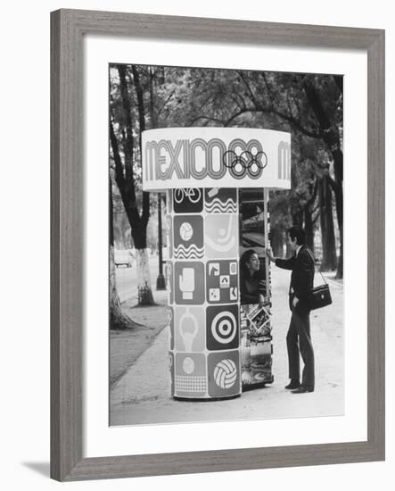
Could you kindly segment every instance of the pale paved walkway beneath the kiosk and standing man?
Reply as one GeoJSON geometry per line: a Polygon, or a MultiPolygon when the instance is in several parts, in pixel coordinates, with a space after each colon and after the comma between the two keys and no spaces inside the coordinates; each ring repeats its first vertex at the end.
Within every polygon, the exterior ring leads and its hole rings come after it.
{"type": "MultiPolygon", "coordinates": [[[[273,268],[273,373],[275,382],[229,401],[179,402],[170,397],[168,332],[163,329],[111,390],[111,425],[191,421],[277,419],[340,415],[343,412],[342,285],[331,282],[333,304],[311,313],[316,357],[316,390],[292,395],[288,382],[285,336],[288,271],[273,268]]],[[[301,365],[302,366],[302,365],[301,365]]]]}

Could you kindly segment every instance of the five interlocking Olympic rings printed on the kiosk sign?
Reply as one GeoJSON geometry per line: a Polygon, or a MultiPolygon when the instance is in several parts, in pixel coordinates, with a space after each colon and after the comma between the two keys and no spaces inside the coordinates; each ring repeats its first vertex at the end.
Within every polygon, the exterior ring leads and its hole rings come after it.
{"type": "Polygon", "coordinates": [[[234,150],[227,150],[222,155],[222,163],[235,179],[243,179],[246,174],[251,179],[257,179],[267,166],[267,154],[262,150],[256,154],[252,154],[249,150],[243,150],[241,154],[236,154],[234,150]]]}

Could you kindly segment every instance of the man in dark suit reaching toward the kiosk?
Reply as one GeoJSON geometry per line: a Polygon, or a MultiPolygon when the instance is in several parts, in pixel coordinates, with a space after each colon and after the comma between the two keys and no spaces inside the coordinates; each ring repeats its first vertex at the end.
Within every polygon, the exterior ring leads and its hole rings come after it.
{"type": "Polygon", "coordinates": [[[314,351],[310,336],[310,295],[314,281],[314,260],[306,246],[306,233],[299,227],[288,230],[288,242],[293,254],[289,259],[278,259],[270,250],[267,257],[284,270],[292,270],[289,290],[291,323],[286,337],[290,383],[285,388],[293,394],[314,391],[314,351]],[[300,356],[304,368],[300,384],[300,356]]]}

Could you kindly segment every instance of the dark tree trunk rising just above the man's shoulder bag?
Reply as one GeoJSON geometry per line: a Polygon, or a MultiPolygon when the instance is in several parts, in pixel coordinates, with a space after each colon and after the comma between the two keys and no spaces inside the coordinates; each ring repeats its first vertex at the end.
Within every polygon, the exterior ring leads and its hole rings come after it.
{"type": "Polygon", "coordinates": [[[336,269],[336,243],[333,229],[332,189],[328,177],[323,176],[319,182],[319,207],[323,259],[321,270],[336,269]]]}

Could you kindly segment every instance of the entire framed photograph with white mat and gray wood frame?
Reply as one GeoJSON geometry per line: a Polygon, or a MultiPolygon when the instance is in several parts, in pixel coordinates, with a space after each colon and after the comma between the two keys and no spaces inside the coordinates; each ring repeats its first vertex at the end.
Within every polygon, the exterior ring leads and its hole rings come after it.
{"type": "Polygon", "coordinates": [[[51,43],[53,479],[383,460],[384,31],[51,43]]]}

